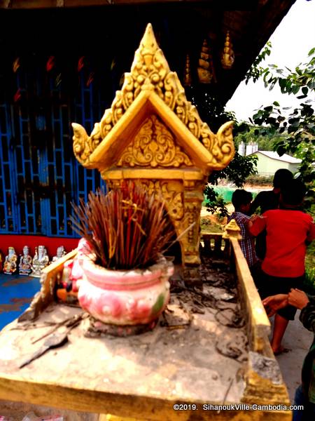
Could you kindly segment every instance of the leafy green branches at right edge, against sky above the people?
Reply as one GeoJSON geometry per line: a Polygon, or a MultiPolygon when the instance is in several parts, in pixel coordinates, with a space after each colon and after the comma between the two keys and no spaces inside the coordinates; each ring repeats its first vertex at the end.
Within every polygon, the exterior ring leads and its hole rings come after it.
{"type": "MultiPolygon", "coordinates": [[[[291,70],[281,69],[276,65],[269,65],[261,71],[266,88],[271,91],[279,84],[281,93],[295,95],[297,100],[305,100],[315,93],[315,48],[309,51],[308,61],[291,70]]],[[[253,77],[253,80],[257,80],[253,77]]],[[[262,130],[269,131],[275,136],[274,151],[281,156],[290,154],[302,159],[299,172],[295,177],[301,178],[309,188],[306,197],[307,207],[315,199],[315,115],[311,100],[300,102],[294,109],[281,108],[279,102],[274,101],[259,109],[253,115],[252,123],[262,130]],[[290,111],[289,111],[290,110],[290,111]],[[280,137],[279,137],[280,135],[280,137]]]]}

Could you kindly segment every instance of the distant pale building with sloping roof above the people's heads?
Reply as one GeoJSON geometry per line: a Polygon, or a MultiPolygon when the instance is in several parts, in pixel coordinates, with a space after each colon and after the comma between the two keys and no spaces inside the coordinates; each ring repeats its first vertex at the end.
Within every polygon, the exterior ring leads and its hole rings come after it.
{"type": "Polygon", "coordinates": [[[257,171],[259,175],[273,175],[279,168],[286,168],[292,173],[297,172],[297,167],[300,165],[302,159],[294,158],[288,154],[279,156],[272,151],[256,151],[250,155],[257,155],[257,171]]]}

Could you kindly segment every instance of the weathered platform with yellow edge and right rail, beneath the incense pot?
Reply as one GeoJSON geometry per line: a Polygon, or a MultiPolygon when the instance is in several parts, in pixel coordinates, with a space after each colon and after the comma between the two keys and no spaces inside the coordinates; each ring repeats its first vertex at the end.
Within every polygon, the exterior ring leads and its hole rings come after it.
{"type": "MultiPolygon", "coordinates": [[[[237,246],[233,246],[236,253],[237,246]]],[[[190,293],[183,291],[181,297],[173,295],[167,320],[161,320],[164,326],[150,333],[85,338],[85,319],[71,330],[66,345],[19,369],[21,361],[44,342],[31,343],[51,328],[45,323],[57,323],[81,310],[50,304],[34,325],[30,321],[11,323],[0,333],[0,399],[138,420],[290,420],[286,410],[205,409],[208,404],[223,403],[288,404],[279,367],[264,351],[267,338],[257,341],[257,335],[263,337],[266,332],[262,325],[267,328],[267,319],[260,318],[260,328],[248,328],[248,323],[257,324],[255,317],[260,313],[251,307],[251,302],[258,305],[253,280],[248,281],[241,267],[237,273],[239,292],[248,298],[243,308],[244,328],[225,326],[218,309],[211,306],[204,307],[203,314],[193,312],[190,293]],[[27,330],[21,330],[25,325],[27,330]],[[262,342],[265,346],[255,350],[262,342]],[[227,349],[234,349],[236,358],[225,356],[227,349]],[[175,403],[195,404],[196,408],[174,410],[175,403]]],[[[203,293],[217,297],[226,293],[215,289],[208,285],[203,293]]],[[[246,302],[241,296],[239,301],[246,302]]],[[[227,306],[235,310],[235,303],[227,306]]]]}

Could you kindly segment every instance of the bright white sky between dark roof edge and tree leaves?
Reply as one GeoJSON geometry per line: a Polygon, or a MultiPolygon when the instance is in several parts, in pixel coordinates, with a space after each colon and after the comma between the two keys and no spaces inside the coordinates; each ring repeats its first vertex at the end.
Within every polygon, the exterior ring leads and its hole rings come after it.
{"type": "MultiPolygon", "coordinates": [[[[315,0],[297,0],[276,28],[269,41],[272,53],[262,62],[294,69],[301,62],[307,62],[307,55],[315,47],[315,0]]],[[[311,98],[314,100],[314,98],[311,98]]],[[[248,121],[261,106],[278,101],[281,107],[294,107],[300,103],[293,95],[284,95],[275,86],[272,91],[265,88],[263,81],[241,82],[226,105],[227,111],[234,111],[237,120],[248,121]]]]}

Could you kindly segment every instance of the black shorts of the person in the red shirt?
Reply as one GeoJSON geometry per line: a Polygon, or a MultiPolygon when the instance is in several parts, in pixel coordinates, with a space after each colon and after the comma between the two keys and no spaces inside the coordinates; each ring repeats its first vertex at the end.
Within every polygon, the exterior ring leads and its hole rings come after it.
{"type": "MultiPolygon", "coordinates": [[[[260,273],[260,279],[257,286],[260,298],[263,300],[269,295],[288,294],[291,288],[298,288],[302,290],[304,281],[304,274],[296,278],[281,278],[280,276],[268,275],[263,270],[260,273]]],[[[287,320],[294,320],[296,308],[292,305],[287,305],[276,313],[287,320]]]]}

